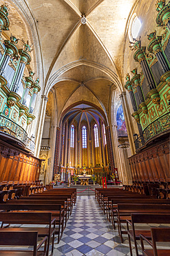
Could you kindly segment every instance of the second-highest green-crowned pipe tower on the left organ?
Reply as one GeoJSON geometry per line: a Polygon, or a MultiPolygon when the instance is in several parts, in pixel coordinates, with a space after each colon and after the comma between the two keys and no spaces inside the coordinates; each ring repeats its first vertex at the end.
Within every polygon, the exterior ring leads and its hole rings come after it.
{"type": "Polygon", "coordinates": [[[18,55],[18,49],[16,46],[18,41],[19,41],[19,39],[17,39],[16,37],[13,37],[12,35],[10,37],[10,41],[9,40],[4,41],[4,44],[6,46],[6,53],[3,57],[3,60],[1,62],[1,66],[0,66],[0,75],[2,75],[2,76],[4,76],[4,73],[6,72],[6,68],[10,62],[10,58],[17,57],[17,55],[18,55]]]}

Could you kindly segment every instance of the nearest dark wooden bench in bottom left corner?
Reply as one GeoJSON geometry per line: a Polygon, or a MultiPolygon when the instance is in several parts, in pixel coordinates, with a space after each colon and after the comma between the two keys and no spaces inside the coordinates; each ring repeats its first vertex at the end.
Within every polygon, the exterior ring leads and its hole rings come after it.
{"type": "Polygon", "coordinates": [[[0,245],[1,246],[34,246],[34,250],[1,250],[0,255],[12,256],[12,255],[33,255],[43,256],[46,253],[47,237],[43,238],[43,241],[38,244],[38,231],[9,231],[8,229],[0,230],[0,245]],[[44,250],[38,251],[39,248],[45,243],[44,250]]]}

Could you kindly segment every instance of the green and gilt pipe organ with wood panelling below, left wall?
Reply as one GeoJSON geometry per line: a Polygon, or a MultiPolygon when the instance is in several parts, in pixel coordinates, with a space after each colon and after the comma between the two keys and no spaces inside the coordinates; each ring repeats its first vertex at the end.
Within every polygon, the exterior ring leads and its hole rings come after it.
{"type": "Polygon", "coordinates": [[[10,27],[6,3],[0,7],[0,26],[0,182],[35,181],[41,162],[32,156],[34,141],[28,137],[27,127],[35,118],[39,78],[34,80],[31,70],[23,77],[31,62],[29,42],[22,39],[23,48],[18,49],[19,39],[13,35],[9,40],[3,38],[3,30],[10,27]]]}

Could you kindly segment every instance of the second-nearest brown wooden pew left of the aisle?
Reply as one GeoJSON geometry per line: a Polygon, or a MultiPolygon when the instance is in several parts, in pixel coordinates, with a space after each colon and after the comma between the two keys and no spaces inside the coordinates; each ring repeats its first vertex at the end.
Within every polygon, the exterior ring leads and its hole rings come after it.
{"type": "MultiPolygon", "coordinates": [[[[0,221],[8,224],[34,224],[32,227],[7,228],[9,231],[38,231],[39,237],[47,237],[47,255],[52,237],[52,253],[54,250],[54,235],[56,219],[51,212],[0,212],[0,221]],[[48,228],[41,228],[39,225],[48,225],[48,228]],[[52,225],[54,227],[52,228],[52,225]]],[[[1,227],[3,228],[3,227],[1,227]]]]}

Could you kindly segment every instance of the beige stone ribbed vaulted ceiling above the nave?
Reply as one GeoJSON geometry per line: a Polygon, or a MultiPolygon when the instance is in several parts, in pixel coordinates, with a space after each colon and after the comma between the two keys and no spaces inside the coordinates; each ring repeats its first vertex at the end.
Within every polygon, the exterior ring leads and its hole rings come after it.
{"type": "MultiPolygon", "coordinates": [[[[19,12],[28,8],[34,19],[42,57],[41,92],[47,94],[52,87],[56,90],[59,115],[80,99],[88,99],[107,112],[111,87],[123,88],[127,20],[138,0],[19,2],[8,1],[12,8],[17,3],[19,12]],[[81,22],[83,15],[85,24],[81,22]]],[[[14,15],[17,18],[17,13],[10,12],[10,29],[20,38],[21,34],[26,37],[25,21],[16,21],[14,15]]]]}

